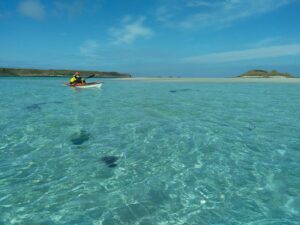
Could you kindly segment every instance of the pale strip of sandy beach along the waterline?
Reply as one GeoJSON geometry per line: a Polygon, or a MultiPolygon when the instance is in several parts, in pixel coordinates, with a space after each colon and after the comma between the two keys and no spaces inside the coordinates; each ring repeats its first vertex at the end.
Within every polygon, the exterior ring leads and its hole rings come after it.
{"type": "Polygon", "coordinates": [[[117,80],[142,81],[142,82],[195,82],[195,83],[300,83],[300,78],[135,77],[135,78],[117,78],[117,80]]]}

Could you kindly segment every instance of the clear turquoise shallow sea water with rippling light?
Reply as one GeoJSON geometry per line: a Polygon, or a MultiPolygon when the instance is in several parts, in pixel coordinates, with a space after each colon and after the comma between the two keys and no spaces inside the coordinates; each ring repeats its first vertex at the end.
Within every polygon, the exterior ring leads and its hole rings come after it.
{"type": "Polygon", "coordinates": [[[299,84],[0,81],[0,224],[299,224],[299,84]]]}

